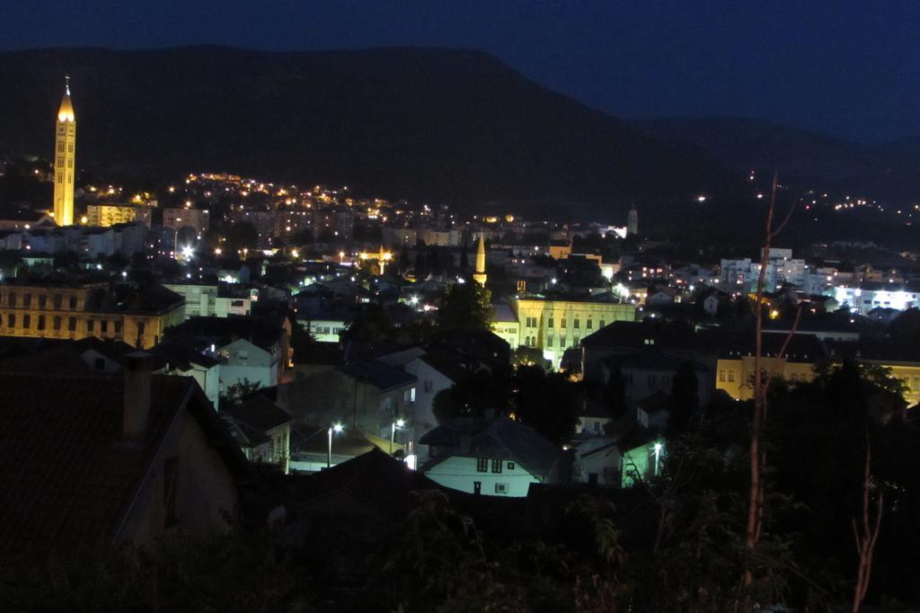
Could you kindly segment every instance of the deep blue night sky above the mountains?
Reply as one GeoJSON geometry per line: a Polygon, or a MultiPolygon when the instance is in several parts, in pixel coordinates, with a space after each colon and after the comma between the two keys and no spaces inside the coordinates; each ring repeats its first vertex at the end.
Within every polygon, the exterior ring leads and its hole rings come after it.
{"type": "Polygon", "coordinates": [[[3,51],[466,47],[620,117],[754,117],[868,143],[920,135],[918,28],[920,3],[898,0],[0,0],[3,51]]]}

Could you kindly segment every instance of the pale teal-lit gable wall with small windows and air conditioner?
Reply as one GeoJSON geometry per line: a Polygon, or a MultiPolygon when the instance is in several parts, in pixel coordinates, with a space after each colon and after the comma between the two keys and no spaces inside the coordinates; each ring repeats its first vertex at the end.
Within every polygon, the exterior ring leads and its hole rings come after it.
{"type": "Polygon", "coordinates": [[[517,462],[491,457],[452,456],[425,470],[425,476],[444,487],[460,492],[475,493],[476,483],[484,496],[526,496],[531,483],[541,482],[517,462]],[[485,471],[481,461],[485,459],[485,471]],[[493,472],[493,462],[499,462],[501,472],[493,472]]]}

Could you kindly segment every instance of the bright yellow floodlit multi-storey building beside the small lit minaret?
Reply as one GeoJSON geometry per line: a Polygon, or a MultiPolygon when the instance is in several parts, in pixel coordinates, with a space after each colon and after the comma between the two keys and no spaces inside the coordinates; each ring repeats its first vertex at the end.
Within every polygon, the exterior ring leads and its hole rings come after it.
{"type": "MultiPolygon", "coordinates": [[[[543,350],[543,356],[559,365],[569,347],[614,321],[634,321],[636,306],[575,299],[516,298],[511,302],[520,332],[516,345],[543,350]]],[[[504,325],[504,324],[502,324],[504,325]]]]}

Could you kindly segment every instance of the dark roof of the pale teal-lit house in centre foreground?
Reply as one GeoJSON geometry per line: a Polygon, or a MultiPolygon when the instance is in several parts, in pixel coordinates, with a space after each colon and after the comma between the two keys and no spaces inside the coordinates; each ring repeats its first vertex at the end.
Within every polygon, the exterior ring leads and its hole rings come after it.
{"type": "Polygon", "coordinates": [[[532,474],[548,476],[558,461],[560,451],[542,434],[530,426],[514,422],[507,417],[475,419],[459,417],[434,428],[421,437],[421,445],[447,447],[451,453],[429,460],[420,469],[425,471],[441,463],[446,457],[493,457],[510,459],[532,474]],[[469,449],[462,449],[469,437],[469,449]]]}

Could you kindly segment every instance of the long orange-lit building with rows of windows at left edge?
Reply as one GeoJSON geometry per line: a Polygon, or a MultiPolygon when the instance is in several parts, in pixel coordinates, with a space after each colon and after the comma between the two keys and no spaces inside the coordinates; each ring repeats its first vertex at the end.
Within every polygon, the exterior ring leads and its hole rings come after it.
{"type": "Polygon", "coordinates": [[[0,335],[79,340],[118,339],[148,349],[185,319],[185,300],[161,285],[2,283],[0,335]]]}

